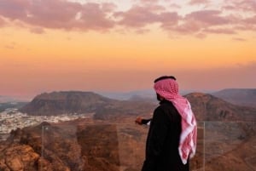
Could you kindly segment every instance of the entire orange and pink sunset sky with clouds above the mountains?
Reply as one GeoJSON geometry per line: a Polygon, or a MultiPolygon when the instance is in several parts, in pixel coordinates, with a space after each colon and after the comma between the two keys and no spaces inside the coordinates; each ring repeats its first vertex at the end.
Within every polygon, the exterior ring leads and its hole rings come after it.
{"type": "Polygon", "coordinates": [[[1,0],[0,95],[256,88],[255,0],[1,0]]]}

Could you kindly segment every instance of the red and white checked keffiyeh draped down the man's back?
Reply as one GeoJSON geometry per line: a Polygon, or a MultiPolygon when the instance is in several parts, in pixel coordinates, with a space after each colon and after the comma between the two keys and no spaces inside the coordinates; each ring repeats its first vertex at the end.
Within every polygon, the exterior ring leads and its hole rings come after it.
{"type": "Polygon", "coordinates": [[[157,94],[172,102],[182,117],[182,133],[178,146],[178,152],[183,164],[186,164],[188,157],[195,156],[197,125],[189,100],[178,94],[177,82],[167,78],[154,83],[154,90],[157,94]]]}

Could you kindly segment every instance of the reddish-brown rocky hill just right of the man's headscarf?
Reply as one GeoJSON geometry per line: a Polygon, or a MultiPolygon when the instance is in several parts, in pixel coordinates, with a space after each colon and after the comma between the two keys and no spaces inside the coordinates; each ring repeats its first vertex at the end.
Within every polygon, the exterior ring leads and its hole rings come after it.
{"type": "Polygon", "coordinates": [[[199,121],[256,121],[256,108],[233,105],[211,94],[193,93],[185,97],[199,121]]]}

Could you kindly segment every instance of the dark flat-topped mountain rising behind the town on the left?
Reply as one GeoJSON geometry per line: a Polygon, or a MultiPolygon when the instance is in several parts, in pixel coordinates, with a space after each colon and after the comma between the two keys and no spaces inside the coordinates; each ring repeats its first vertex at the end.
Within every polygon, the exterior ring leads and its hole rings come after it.
{"type": "Polygon", "coordinates": [[[114,100],[92,92],[53,92],[36,96],[20,109],[32,115],[56,115],[63,113],[92,112],[114,100]]]}

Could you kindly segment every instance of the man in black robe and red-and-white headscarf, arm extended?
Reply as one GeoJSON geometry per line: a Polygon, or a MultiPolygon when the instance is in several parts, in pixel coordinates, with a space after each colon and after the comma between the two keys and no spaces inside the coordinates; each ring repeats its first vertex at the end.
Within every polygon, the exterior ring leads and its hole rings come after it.
{"type": "Polygon", "coordinates": [[[136,120],[139,124],[150,122],[142,171],[189,171],[197,136],[189,101],[178,94],[176,78],[172,76],[155,79],[154,90],[160,105],[153,118],[136,120]]]}

